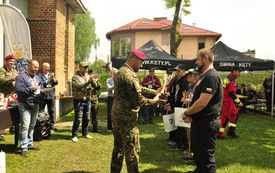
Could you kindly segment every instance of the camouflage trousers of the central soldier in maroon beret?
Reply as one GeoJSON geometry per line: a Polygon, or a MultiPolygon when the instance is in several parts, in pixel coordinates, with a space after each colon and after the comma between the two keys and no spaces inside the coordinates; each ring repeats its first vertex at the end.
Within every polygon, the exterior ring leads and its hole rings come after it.
{"type": "Polygon", "coordinates": [[[137,122],[125,122],[112,119],[114,124],[114,149],[111,173],[120,173],[125,154],[127,171],[137,173],[140,152],[139,130],[137,122]]]}

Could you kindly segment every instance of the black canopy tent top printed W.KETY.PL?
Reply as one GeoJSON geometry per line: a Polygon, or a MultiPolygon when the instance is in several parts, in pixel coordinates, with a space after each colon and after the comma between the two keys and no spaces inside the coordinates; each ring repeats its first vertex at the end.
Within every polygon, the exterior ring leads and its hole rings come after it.
{"type": "MultiPolygon", "coordinates": [[[[153,67],[165,70],[168,68],[174,68],[178,64],[185,64],[188,68],[194,67],[195,65],[195,60],[183,60],[169,55],[159,47],[154,40],[150,40],[140,47],[139,50],[141,50],[146,56],[146,60],[143,61],[142,64],[143,69],[150,69],[153,67]]],[[[126,59],[127,56],[112,57],[112,66],[120,68],[126,62],[126,59]]]]}

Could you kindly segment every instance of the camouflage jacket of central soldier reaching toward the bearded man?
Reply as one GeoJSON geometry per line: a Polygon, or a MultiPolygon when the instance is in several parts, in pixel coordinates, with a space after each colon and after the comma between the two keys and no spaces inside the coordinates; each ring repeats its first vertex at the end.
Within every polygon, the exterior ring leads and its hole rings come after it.
{"type": "Polygon", "coordinates": [[[156,91],[142,87],[135,72],[122,66],[115,78],[112,118],[123,121],[137,121],[140,106],[153,105],[156,91]],[[146,96],[146,97],[145,97],[146,96]]]}

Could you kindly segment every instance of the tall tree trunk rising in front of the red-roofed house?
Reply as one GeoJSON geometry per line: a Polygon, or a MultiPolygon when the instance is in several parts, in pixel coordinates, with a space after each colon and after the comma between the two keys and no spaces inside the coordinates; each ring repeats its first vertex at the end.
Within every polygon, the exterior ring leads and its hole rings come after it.
{"type": "Polygon", "coordinates": [[[181,24],[181,14],[185,16],[191,14],[186,8],[191,6],[191,0],[164,0],[166,2],[166,8],[175,8],[173,23],[171,26],[170,34],[170,54],[177,57],[178,47],[183,39],[183,36],[179,34],[178,30],[181,24]],[[182,1],[184,2],[182,4],[182,1]]]}

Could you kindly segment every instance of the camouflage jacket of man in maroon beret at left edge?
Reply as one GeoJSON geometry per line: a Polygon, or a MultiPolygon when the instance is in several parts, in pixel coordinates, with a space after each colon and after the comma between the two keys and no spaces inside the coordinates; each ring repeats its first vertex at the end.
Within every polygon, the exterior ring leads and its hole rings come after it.
{"type": "Polygon", "coordinates": [[[15,78],[13,77],[18,72],[15,69],[11,69],[11,72],[6,69],[5,66],[0,68],[0,93],[4,93],[5,97],[14,93],[15,78]]]}

